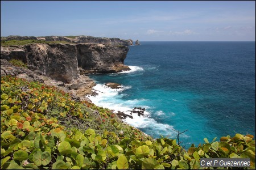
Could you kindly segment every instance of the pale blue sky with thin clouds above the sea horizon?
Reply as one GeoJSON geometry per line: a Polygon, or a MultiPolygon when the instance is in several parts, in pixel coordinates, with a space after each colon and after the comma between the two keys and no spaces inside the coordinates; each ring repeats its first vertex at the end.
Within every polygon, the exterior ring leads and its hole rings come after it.
{"type": "Polygon", "coordinates": [[[255,41],[255,1],[1,1],[1,36],[255,41]]]}

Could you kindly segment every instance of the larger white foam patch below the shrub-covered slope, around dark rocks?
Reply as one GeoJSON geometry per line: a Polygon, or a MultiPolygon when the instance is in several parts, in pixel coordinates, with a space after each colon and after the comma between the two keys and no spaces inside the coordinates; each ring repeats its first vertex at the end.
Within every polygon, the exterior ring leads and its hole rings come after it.
{"type": "MultiPolygon", "coordinates": [[[[120,93],[129,88],[131,88],[131,86],[121,86],[121,88],[112,89],[104,84],[97,84],[93,87],[93,90],[96,91],[98,95],[88,96],[88,98],[100,107],[112,109],[114,113],[120,111],[130,115],[130,111],[133,111],[134,107],[146,108],[143,116],[138,116],[137,113],[132,113],[133,118],[127,117],[124,121],[135,128],[146,128],[147,131],[151,131],[151,135],[163,134],[175,137],[175,131],[172,130],[174,129],[173,126],[161,124],[150,117],[151,113],[148,112],[147,109],[150,109],[151,107],[141,104],[145,99],[122,100],[122,94],[120,93]]],[[[163,115],[164,112],[159,111],[158,114],[163,115]]]]}

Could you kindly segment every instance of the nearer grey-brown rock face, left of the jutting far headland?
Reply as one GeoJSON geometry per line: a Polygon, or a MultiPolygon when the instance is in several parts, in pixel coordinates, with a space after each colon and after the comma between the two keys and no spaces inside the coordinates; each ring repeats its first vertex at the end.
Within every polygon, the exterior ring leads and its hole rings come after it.
{"type": "Polygon", "coordinates": [[[63,82],[79,77],[77,49],[70,44],[32,44],[27,48],[27,64],[43,75],[63,82]]]}

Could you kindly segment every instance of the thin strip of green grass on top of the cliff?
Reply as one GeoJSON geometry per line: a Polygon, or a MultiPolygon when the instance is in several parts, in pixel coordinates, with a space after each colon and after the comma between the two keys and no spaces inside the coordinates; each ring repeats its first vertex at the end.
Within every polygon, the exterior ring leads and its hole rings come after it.
{"type": "Polygon", "coordinates": [[[45,41],[45,40],[2,40],[1,45],[29,45],[29,44],[71,44],[71,42],[67,41],[45,41]]]}

